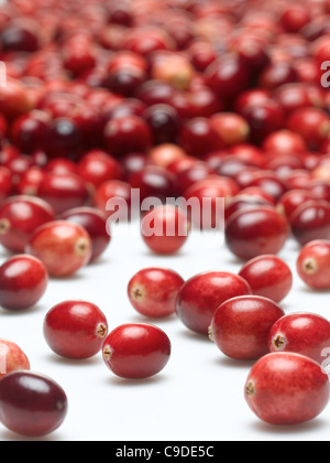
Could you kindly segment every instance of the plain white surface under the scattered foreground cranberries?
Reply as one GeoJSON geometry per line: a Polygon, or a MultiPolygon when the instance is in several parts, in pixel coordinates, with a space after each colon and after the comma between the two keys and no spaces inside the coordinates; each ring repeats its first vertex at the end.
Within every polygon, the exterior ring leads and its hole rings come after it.
{"type": "MultiPolygon", "coordinates": [[[[329,440],[330,407],[312,422],[275,428],[261,422],[244,401],[243,389],[252,363],[230,360],[207,338],[189,332],[175,316],[153,322],[173,344],[172,358],[158,376],[144,381],[117,378],[101,355],[79,363],[51,352],[42,326],[46,312],[68,299],[97,303],[110,330],[127,322],[148,322],[130,305],[127,286],[140,269],[169,267],[185,279],[207,270],[238,272],[237,261],[223,244],[190,236],[176,257],[148,252],[136,227],[134,234],[116,228],[102,259],[68,280],[52,280],[32,311],[0,310],[0,337],[18,343],[34,372],[46,374],[65,389],[69,410],[50,441],[320,441],[329,440]]],[[[316,312],[329,317],[329,293],[308,290],[295,272],[298,247],[289,241],[280,254],[295,273],[293,292],[282,304],[287,313],[316,312]]],[[[0,254],[1,261],[6,252],[0,254]]],[[[24,440],[0,426],[0,440],[24,440]]]]}

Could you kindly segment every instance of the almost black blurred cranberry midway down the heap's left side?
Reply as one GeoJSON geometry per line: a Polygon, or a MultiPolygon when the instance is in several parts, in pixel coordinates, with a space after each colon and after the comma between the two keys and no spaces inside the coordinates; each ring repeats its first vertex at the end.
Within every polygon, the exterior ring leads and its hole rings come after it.
{"type": "Polygon", "coordinates": [[[46,152],[51,158],[76,157],[81,144],[81,134],[73,119],[54,119],[50,127],[46,152]]]}

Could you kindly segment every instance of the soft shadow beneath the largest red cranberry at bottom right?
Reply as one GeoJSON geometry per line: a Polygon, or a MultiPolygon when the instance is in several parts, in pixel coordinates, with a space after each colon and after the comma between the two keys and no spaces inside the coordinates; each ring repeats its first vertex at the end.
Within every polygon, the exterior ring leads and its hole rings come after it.
{"type": "Polygon", "coordinates": [[[311,431],[320,431],[329,427],[327,420],[322,418],[317,418],[312,421],[308,421],[301,424],[295,426],[273,426],[262,421],[253,422],[250,424],[250,429],[254,429],[257,432],[263,432],[265,434],[277,434],[277,435],[293,435],[293,434],[304,434],[311,431]]]}

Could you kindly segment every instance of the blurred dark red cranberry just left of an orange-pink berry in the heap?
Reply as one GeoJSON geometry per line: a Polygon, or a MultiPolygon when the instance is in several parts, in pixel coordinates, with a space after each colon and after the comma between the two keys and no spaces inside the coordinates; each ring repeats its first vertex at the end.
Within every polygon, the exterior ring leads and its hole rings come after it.
{"type": "Polygon", "coordinates": [[[202,157],[222,147],[222,141],[207,118],[187,121],[179,136],[183,149],[190,155],[202,157]]]}

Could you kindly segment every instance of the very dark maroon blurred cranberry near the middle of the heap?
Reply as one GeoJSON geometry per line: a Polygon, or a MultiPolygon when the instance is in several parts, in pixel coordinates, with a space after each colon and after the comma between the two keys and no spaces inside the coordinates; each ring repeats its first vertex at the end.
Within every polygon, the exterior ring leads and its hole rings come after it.
{"type": "Polygon", "coordinates": [[[151,127],[156,144],[175,142],[180,131],[180,118],[175,108],[168,105],[154,105],[143,115],[151,127]]]}

